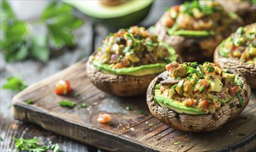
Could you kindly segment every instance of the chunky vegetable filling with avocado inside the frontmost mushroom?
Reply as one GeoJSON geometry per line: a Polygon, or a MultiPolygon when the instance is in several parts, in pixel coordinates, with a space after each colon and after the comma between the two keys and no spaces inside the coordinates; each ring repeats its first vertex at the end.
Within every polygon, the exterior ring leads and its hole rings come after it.
{"type": "Polygon", "coordinates": [[[154,90],[155,101],[163,108],[200,115],[214,113],[235,96],[242,102],[239,92],[243,84],[238,75],[216,64],[173,61],[166,68],[168,75],[160,76],[154,90]]]}

